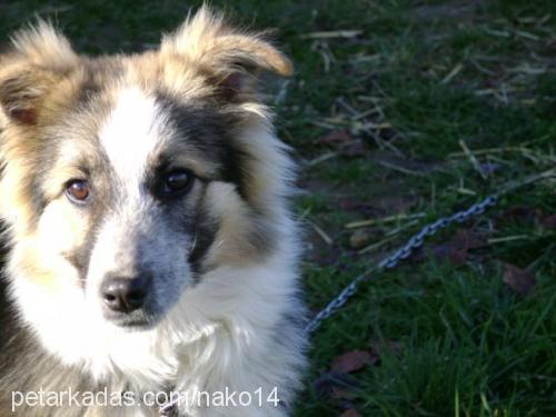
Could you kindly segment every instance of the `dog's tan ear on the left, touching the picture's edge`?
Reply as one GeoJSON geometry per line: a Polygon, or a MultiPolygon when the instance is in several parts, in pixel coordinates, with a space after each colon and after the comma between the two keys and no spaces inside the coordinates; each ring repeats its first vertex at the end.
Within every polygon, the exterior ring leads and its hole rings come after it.
{"type": "Polygon", "coordinates": [[[34,125],[44,97],[76,67],[78,57],[44,21],[17,32],[11,43],[0,56],[0,107],[8,120],[34,125]]]}

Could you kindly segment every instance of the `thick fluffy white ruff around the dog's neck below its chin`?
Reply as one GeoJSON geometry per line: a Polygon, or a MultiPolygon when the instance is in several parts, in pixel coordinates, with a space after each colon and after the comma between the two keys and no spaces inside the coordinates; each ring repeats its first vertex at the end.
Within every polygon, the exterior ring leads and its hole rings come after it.
{"type": "Polygon", "coordinates": [[[79,287],[68,288],[62,302],[22,278],[13,281],[13,295],[24,321],[59,360],[99,383],[140,391],[195,386],[203,367],[215,371],[235,355],[242,360],[251,339],[269,331],[296,296],[295,281],[295,259],[286,252],[260,266],[218,268],[158,326],[137,332],[91,318],[79,287]],[[188,357],[198,363],[188,364],[188,357]]]}

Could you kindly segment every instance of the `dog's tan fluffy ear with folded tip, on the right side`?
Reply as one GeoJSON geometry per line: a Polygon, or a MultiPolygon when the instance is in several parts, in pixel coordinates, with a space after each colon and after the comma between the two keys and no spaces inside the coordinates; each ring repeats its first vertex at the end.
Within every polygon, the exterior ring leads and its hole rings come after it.
{"type": "Polygon", "coordinates": [[[224,16],[207,6],[165,36],[160,50],[206,70],[228,99],[251,89],[261,71],[284,77],[292,72],[289,59],[260,33],[227,26],[224,16]]]}

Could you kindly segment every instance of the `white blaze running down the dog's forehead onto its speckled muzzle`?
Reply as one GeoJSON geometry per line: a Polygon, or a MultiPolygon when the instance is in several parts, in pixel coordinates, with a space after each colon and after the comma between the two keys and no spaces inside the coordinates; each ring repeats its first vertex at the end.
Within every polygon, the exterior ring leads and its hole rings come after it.
{"type": "MultiPolygon", "coordinates": [[[[190,278],[187,250],[171,246],[190,247],[192,238],[175,234],[180,239],[173,239],[153,224],[158,209],[146,185],[146,173],[153,168],[157,149],[172,133],[167,116],[152,97],[135,87],[117,92],[115,107],[99,132],[100,145],[116,173],[110,178],[116,207],[99,226],[89,261],[87,291],[96,316],[102,316],[98,294],[107,274],[129,274],[140,262],[148,262],[158,266],[159,276],[181,277],[182,286],[190,278]],[[139,254],[136,244],[141,240],[148,241],[152,250],[139,254]]],[[[182,287],[176,285],[173,289],[179,294],[182,287]]]]}

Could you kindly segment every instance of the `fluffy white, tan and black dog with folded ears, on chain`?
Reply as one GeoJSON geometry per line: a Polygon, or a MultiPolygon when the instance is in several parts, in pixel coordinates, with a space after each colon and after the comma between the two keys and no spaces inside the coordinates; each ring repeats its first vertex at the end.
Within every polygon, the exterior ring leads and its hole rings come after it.
{"type": "Polygon", "coordinates": [[[295,165],[257,80],[291,70],[206,6],[136,54],[77,54],[40,20],[12,37],[2,415],[290,415],[306,367],[295,165]]]}

